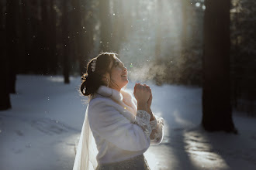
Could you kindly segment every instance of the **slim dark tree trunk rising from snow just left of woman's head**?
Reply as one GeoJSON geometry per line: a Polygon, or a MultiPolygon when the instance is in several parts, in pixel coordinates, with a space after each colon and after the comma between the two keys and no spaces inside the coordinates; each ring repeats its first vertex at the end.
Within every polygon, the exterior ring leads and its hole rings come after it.
{"type": "Polygon", "coordinates": [[[62,15],[62,37],[63,37],[63,74],[64,74],[64,83],[70,83],[69,80],[69,39],[68,39],[68,16],[67,16],[67,0],[63,2],[63,15],[62,15]]]}

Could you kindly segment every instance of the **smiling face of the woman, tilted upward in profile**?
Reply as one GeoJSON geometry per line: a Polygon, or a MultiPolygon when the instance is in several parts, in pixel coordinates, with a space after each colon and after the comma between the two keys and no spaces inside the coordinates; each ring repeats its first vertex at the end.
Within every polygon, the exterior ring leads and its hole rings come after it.
{"type": "Polygon", "coordinates": [[[107,75],[109,87],[115,90],[121,90],[129,82],[127,78],[127,68],[123,65],[120,59],[116,58],[115,62],[111,62],[111,75],[107,75]]]}

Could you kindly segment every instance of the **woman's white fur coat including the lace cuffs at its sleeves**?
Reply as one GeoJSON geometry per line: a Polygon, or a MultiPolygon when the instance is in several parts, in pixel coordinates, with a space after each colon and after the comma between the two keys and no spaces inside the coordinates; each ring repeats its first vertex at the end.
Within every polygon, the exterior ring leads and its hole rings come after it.
{"type": "Polygon", "coordinates": [[[99,87],[88,104],[88,121],[99,151],[98,163],[119,162],[142,155],[163,138],[164,120],[137,110],[137,100],[128,92],[99,87]]]}

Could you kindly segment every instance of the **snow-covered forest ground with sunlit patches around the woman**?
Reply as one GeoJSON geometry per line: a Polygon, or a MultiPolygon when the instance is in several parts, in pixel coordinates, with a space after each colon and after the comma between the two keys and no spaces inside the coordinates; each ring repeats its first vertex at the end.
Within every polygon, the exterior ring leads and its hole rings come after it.
{"type": "MultiPolygon", "coordinates": [[[[79,77],[19,75],[12,110],[0,111],[0,170],[71,169],[85,117],[79,77]]],[[[133,89],[129,83],[127,90],[133,89]]],[[[200,128],[202,90],[153,89],[152,110],[164,117],[164,141],[145,153],[153,169],[256,169],[256,119],[234,114],[240,134],[200,128]]]]}

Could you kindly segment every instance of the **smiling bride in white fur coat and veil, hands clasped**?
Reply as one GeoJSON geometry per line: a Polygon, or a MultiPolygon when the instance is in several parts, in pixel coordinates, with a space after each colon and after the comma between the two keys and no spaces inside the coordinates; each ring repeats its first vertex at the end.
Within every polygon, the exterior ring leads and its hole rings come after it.
{"type": "Polygon", "coordinates": [[[150,87],[136,83],[135,98],[123,90],[127,69],[115,53],[92,59],[81,80],[89,104],[73,170],[150,169],[143,154],[164,136],[164,120],[150,109],[150,87]]]}

